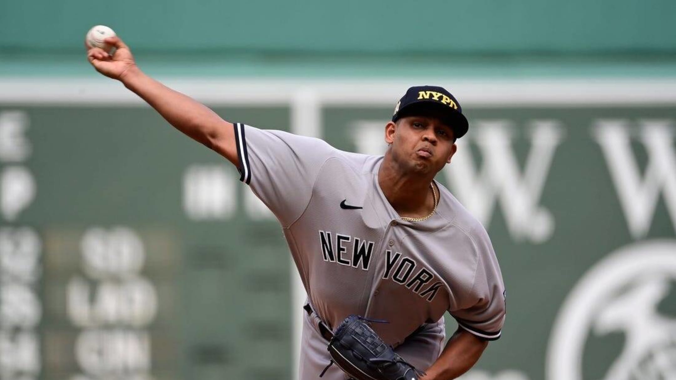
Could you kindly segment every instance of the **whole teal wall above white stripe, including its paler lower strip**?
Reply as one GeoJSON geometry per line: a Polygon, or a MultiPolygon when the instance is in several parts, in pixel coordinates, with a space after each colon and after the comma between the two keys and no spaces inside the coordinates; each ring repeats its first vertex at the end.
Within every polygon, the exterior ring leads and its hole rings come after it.
{"type": "Polygon", "coordinates": [[[169,76],[676,75],[669,0],[5,0],[0,76],[91,75],[95,24],[169,76]]]}

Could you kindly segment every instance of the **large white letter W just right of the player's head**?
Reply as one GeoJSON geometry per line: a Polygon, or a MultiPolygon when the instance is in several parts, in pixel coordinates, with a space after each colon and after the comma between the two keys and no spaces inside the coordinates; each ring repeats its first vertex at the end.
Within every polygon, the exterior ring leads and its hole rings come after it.
{"type": "Polygon", "coordinates": [[[523,170],[512,145],[516,128],[509,120],[473,124],[472,136],[483,159],[481,171],[469,149],[458,149],[444,170],[456,197],[483,225],[489,224],[499,200],[512,239],[542,243],[554,233],[554,217],[539,201],[564,133],[554,120],[533,120],[529,127],[531,147],[523,170]]]}

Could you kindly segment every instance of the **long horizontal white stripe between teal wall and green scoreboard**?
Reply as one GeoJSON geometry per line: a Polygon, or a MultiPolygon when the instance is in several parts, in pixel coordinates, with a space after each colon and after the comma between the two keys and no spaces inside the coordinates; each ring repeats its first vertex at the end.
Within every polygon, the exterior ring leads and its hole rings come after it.
{"type": "MultiPolygon", "coordinates": [[[[176,79],[163,82],[208,105],[289,105],[310,91],[321,105],[391,105],[411,85],[434,83],[464,107],[598,106],[676,103],[676,79],[463,80],[232,80],[176,79]]],[[[147,106],[119,82],[107,78],[0,78],[0,103],[147,106]]]]}

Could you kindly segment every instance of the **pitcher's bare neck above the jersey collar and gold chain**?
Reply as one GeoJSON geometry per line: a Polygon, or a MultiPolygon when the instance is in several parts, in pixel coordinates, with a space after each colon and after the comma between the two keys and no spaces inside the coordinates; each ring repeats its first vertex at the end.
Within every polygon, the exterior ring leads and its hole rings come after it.
{"type": "Polygon", "coordinates": [[[410,173],[385,155],[378,171],[378,184],[383,194],[400,216],[425,216],[434,208],[430,184],[433,175],[410,173]]]}

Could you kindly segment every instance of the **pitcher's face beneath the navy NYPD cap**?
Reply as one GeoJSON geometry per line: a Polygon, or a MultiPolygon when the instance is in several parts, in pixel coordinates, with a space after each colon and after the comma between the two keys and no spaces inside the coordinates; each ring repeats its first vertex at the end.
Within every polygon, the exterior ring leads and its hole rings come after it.
{"type": "Polygon", "coordinates": [[[434,116],[408,116],[385,126],[392,159],[406,171],[436,174],[456,152],[453,130],[434,116]]]}

